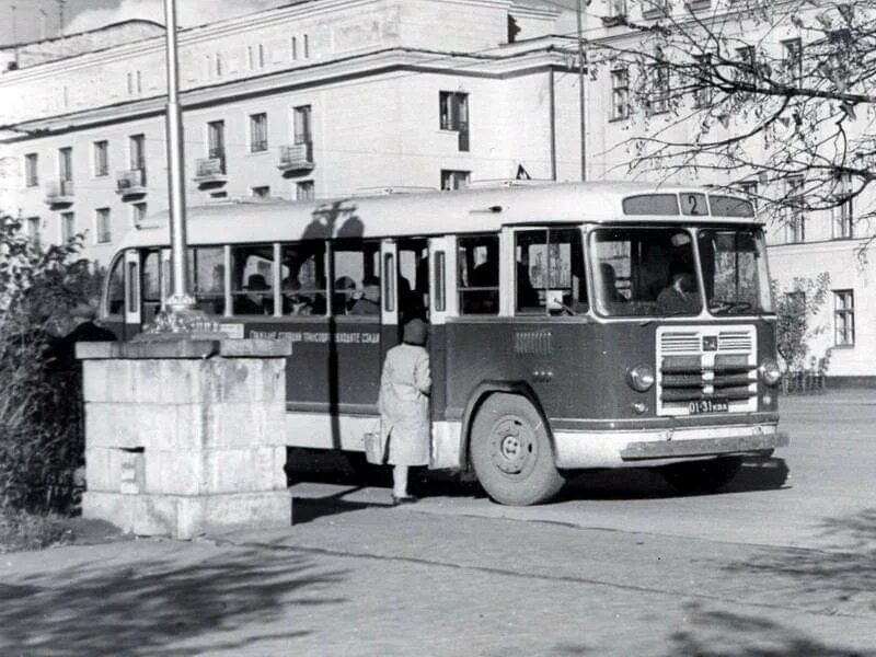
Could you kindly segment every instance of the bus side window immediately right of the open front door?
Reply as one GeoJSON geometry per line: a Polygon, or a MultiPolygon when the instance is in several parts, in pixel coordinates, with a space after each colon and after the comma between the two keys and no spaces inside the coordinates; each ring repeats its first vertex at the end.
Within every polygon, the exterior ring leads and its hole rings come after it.
{"type": "Polygon", "coordinates": [[[459,238],[457,245],[460,314],[498,314],[498,235],[459,238]]]}

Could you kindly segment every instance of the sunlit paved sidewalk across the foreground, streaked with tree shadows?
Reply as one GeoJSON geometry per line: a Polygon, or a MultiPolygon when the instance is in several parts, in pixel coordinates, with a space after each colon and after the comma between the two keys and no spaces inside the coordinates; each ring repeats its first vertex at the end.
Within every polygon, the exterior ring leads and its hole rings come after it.
{"type": "Polygon", "coordinates": [[[5,555],[0,654],[876,655],[873,591],[777,550],[343,499],[299,521],[5,555]]]}

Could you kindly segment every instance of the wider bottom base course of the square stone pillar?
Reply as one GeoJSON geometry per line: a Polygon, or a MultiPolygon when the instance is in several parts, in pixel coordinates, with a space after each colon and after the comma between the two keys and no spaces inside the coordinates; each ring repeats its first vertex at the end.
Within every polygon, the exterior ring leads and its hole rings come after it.
{"type": "Polygon", "coordinates": [[[82,516],[112,522],[141,537],[188,540],[258,527],[289,527],[292,500],[288,491],[218,495],[126,495],[87,491],[82,516]]]}

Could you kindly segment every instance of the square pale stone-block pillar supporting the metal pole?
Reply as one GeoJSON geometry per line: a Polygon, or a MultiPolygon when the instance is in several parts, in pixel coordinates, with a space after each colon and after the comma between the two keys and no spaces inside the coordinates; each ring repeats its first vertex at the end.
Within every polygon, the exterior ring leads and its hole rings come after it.
{"type": "Polygon", "coordinates": [[[288,527],[286,357],[261,339],[80,343],[82,514],[191,539],[288,527]]]}

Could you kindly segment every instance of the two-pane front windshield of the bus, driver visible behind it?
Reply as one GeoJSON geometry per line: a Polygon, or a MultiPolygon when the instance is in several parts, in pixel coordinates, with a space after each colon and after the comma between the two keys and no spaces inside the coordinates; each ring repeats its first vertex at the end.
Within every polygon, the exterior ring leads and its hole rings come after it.
{"type": "Polygon", "coordinates": [[[751,227],[598,228],[590,253],[602,315],[696,315],[703,291],[716,316],[772,310],[763,235],[751,227]]]}

